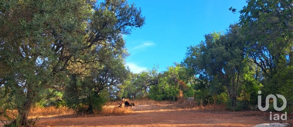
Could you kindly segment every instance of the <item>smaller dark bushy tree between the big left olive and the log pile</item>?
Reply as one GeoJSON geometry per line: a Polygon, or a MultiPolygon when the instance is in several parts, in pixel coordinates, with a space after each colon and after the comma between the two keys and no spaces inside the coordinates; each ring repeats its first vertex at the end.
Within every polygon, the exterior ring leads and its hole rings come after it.
{"type": "Polygon", "coordinates": [[[86,77],[71,75],[64,95],[67,106],[78,113],[101,111],[106,101],[100,94],[101,90],[121,84],[128,73],[121,60],[114,62],[107,63],[101,69],[92,69],[86,77]]]}

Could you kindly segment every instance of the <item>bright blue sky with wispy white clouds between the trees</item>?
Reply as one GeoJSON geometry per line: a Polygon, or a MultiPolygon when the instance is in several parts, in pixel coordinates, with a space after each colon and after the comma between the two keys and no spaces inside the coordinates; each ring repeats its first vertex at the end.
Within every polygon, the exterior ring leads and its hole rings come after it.
{"type": "Polygon", "coordinates": [[[134,73],[159,65],[164,71],[185,57],[186,47],[199,44],[204,35],[226,31],[239,20],[238,11],[246,6],[245,0],[128,0],[141,7],[146,17],[142,28],[125,35],[126,47],[131,54],[126,65],[134,73]]]}

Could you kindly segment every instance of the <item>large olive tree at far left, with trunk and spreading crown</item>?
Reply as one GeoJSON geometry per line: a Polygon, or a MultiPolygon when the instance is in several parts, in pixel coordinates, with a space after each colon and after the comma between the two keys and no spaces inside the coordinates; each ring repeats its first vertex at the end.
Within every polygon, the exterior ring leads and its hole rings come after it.
{"type": "Polygon", "coordinates": [[[124,0],[1,1],[1,112],[17,109],[11,123],[27,126],[45,89],[62,89],[67,75],[103,68],[109,54],[125,52],[122,35],[143,24],[141,10],[124,0]]]}

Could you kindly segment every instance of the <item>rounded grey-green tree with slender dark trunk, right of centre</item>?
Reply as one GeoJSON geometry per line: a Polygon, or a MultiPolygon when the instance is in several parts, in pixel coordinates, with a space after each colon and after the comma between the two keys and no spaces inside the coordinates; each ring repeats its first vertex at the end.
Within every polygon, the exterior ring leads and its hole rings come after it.
{"type": "MultiPolygon", "coordinates": [[[[187,68],[193,68],[194,74],[206,75],[213,84],[209,88],[224,86],[235,107],[238,89],[242,85],[240,78],[243,74],[243,65],[246,62],[243,55],[244,41],[239,26],[231,25],[226,34],[214,32],[205,35],[204,42],[189,49],[185,60],[187,68]]],[[[201,94],[207,97],[206,93],[201,94]]],[[[208,99],[205,99],[204,103],[206,101],[208,99]]]]}

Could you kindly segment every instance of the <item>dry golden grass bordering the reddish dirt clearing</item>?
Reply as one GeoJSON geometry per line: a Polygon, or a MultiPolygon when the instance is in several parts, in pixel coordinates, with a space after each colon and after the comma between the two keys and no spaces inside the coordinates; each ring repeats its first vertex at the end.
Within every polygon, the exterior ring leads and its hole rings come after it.
{"type": "MultiPolygon", "coordinates": [[[[150,99],[130,100],[131,103],[135,103],[136,106],[149,106],[151,110],[179,110],[179,109],[190,109],[190,110],[225,110],[224,106],[208,105],[198,106],[196,102],[184,101],[183,103],[172,102],[172,101],[155,101],[150,99]],[[154,106],[150,106],[154,105],[154,106]]],[[[101,117],[101,116],[119,116],[137,113],[132,107],[121,107],[118,108],[118,103],[121,101],[112,101],[106,103],[103,106],[103,111],[95,114],[75,114],[74,110],[68,109],[67,107],[56,108],[54,106],[49,107],[34,107],[31,109],[28,118],[49,118],[49,117],[101,117]]],[[[149,110],[139,109],[139,110],[149,110]]],[[[14,115],[17,115],[17,110],[13,110],[14,115]]]]}

